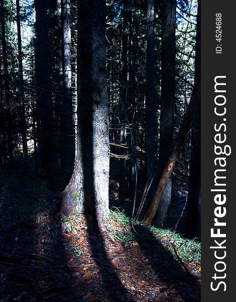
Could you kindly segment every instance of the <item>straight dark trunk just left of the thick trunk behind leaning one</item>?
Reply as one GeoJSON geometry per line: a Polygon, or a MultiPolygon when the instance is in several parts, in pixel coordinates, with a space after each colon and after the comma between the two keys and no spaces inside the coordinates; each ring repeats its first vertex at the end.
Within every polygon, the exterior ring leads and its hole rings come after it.
{"type": "Polygon", "coordinates": [[[155,164],[155,12],[154,0],[147,1],[147,84],[146,84],[146,170],[147,179],[152,176],[155,164]]]}

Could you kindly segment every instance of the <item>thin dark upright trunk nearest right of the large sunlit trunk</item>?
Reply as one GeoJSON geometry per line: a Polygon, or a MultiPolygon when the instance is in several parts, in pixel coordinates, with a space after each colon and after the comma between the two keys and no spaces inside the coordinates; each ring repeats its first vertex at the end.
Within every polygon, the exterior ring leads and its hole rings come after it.
{"type": "MultiPolygon", "coordinates": [[[[123,34],[122,34],[122,72],[121,72],[121,98],[125,110],[127,109],[127,81],[128,81],[128,0],[124,0],[123,8],[123,34]]],[[[127,143],[126,137],[126,115],[121,105],[121,141],[122,145],[127,143]]],[[[126,149],[121,148],[121,153],[125,157],[126,149]]],[[[120,182],[119,182],[119,200],[125,202],[126,199],[126,159],[120,159],[120,182]]]]}

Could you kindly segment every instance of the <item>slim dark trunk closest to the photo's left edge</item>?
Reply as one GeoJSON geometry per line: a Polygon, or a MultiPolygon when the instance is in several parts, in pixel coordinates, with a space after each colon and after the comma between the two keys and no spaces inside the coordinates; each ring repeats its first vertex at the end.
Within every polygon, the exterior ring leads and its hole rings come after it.
{"type": "Polygon", "coordinates": [[[6,121],[7,121],[7,135],[8,135],[8,153],[9,153],[9,167],[13,168],[13,137],[12,137],[12,114],[10,104],[10,86],[9,86],[9,72],[8,72],[8,53],[7,53],[7,41],[6,41],[6,24],[5,24],[5,9],[4,0],[0,0],[1,10],[1,25],[2,25],[2,47],[3,47],[3,58],[4,58],[4,84],[5,84],[5,99],[6,99],[6,121]]]}

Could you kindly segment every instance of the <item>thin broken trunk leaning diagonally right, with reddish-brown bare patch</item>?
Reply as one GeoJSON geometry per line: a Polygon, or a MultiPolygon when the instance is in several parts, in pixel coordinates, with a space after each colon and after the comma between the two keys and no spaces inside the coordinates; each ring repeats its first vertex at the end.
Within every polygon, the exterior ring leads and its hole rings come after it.
{"type": "Polygon", "coordinates": [[[189,127],[191,125],[192,118],[193,118],[193,113],[194,113],[194,111],[196,109],[196,105],[197,105],[198,94],[200,94],[200,83],[197,83],[197,85],[195,85],[195,87],[193,88],[193,92],[192,92],[192,95],[191,95],[190,102],[188,104],[186,114],[184,116],[181,127],[179,129],[179,132],[176,136],[176,140],[175,140],[174,145],[173,145],[172,154],[171,154],[171,156],[169,157],[169,159],[166,163],[164,172],[162,173],[162,176],[161,176],[160,181],[158,183],[158,187],[157,187],[157,190],[155,192],[153,201],[152,201],[149,209],[147,210],[147,212],[145,214],[145,217],[142,221],[146,225],[150,225],[152,223],[153,217],[154,217],[154,215],[155,215],[155,213],[158,209],[158,206],[161,202],[161,198],[162,198],[163,192],[166,188],[167,181],[171,176],[171,173],[174,169],[176,160],[179,156],[181,146],[182,146],[183,141],[184,141],[184,137],[187,134],[187,132],[189,130],[189,127]]]}

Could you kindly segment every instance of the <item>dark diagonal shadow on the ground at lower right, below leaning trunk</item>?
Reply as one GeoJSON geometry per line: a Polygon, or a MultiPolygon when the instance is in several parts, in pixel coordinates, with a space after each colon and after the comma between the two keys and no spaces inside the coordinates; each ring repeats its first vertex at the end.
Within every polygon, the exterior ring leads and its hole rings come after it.
{"type": "MultiPolygon", "coordinates": [[[[160,282],[167,288],[174,288],[187,302],[200,301],[200,284],[195,276],[190,277],[173,255],[153,236],[149,228],[142,225],[132,226],[133,235],[160,282]]],[[[167,301],[167,300],[166,300],[167,301]]],[[[169,297],[169,302],[176,301],[169,297]]]]}

